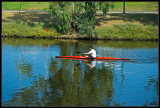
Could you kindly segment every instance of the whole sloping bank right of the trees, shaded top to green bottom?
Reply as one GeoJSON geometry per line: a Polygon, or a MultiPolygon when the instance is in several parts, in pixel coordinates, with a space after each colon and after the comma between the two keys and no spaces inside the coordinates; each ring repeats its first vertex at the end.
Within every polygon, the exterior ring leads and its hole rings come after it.
{"type": "Polygon", "coordinates": [[[101,38],[158,39],[158,14],[109,14],[97,16],[101,38]]]}

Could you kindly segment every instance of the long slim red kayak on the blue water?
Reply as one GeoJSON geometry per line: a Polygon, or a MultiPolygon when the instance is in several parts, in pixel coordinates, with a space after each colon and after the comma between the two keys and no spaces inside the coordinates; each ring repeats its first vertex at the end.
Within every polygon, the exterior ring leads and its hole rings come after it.
{"type": "Polygon", "coordinates": [[[85,56],[56,56],[55,58],[64,58],[64,59],[96,59],[96,60],[130,60],[129,58],[113,58],[113,57],[85,57],[85,56]]]}

